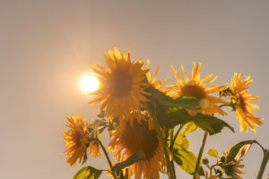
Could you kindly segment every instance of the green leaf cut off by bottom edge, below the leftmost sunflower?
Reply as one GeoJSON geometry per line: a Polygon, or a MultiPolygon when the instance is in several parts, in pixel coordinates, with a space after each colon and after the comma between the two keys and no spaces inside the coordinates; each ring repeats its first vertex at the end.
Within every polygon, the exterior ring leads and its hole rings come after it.
{"type": "Polygon", "coordinates": [[[98,179],[102,171],[92,166],[84,166],[73,177],[73,179],[98,179]]]}

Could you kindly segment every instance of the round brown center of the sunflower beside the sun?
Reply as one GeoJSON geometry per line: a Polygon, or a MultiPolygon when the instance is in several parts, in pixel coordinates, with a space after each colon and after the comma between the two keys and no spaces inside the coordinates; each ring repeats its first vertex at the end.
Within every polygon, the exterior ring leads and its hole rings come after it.
{"type": "Polygon", "coordinates": [[[126,97],[132,90],[132,77],[128,72],[113,72],[108,83],[110,95],[116,98],[126,97]]]}

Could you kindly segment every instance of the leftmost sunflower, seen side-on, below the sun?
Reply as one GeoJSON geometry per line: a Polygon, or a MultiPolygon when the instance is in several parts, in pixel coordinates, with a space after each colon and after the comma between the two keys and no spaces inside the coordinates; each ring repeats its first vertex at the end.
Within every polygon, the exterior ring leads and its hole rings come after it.
{"type": "Polygon", "coordinates": [[[89,134],[87,131],[87,122],[82,119],[81,115],[68,115],[65,124],[70,129],[63,132],[65,138],[66,163],[75,166],[78,159],[81,162],[84,153],[89,145],[89,134]]]}

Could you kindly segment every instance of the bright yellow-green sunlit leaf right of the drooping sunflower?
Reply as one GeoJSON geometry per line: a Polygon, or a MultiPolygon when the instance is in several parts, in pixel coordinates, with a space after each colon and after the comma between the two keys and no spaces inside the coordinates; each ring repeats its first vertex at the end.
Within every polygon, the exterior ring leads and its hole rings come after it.
{"type": "MultiPolygon", "coordinates": [[[[197,157],[192,151],[189,151],[189,141],[183,133],[178,133],[174,144],[173,159],[188,174],[193,175],[197,157]]],[[[202,167],[199,168],[199,175],[204,175],[202,167]]]]}

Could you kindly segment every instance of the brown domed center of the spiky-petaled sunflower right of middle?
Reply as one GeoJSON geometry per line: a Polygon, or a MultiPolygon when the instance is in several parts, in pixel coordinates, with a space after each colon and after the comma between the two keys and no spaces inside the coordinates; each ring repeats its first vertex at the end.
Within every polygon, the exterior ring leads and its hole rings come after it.
{"type": "Polygon", "coordinates": [[[205,92],[204,90],[196,85],[187,85],[181,90],[182,95],[192,96],[199,100],[202,100],[205,98],[205,92]]]}

